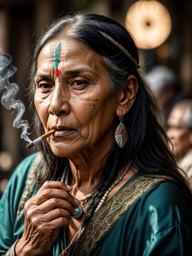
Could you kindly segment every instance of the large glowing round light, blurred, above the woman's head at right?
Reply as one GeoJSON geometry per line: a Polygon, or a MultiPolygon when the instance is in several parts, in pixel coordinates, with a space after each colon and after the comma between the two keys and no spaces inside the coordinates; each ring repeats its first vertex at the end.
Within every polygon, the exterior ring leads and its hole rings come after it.
{"type": "Polygon", "coordinates": [[[125,25],[141,49],[153,49],[161,45],[172,28],[167,8],[153,0],[140,0],[132,4],[127,11],[125,25]]]}

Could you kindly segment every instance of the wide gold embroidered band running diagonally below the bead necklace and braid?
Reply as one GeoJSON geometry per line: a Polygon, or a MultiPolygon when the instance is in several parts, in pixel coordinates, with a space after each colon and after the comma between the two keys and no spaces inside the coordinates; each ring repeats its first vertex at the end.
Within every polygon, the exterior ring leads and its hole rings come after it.
{"type": "Polygon", "coordinates": [[[114,228],[132,204],[153,186],[173,180],[169,176],[139,176],[126,184],[95,214],[90,222],[79,229],[69,246],[60,256],[88,256],[114,228]]]}

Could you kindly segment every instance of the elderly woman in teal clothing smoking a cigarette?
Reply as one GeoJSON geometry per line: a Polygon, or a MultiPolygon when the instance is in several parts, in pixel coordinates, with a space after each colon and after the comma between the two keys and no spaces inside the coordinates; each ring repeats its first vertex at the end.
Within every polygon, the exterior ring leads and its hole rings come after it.
{"type": "Polygon", "coordinates": [[[75,14],[37,40],[37,135],[1,199],[6,255],[186,255],[192,212],[131,35],[75,14]]]}

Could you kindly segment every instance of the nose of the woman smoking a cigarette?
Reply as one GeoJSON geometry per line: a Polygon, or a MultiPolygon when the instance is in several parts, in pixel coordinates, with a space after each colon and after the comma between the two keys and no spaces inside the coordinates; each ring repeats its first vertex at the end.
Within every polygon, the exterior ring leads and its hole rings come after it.
{"type": "Polygon", "coordinates": [[[49,113],[55,115],[70,113],[67,92],[61,86],[56,85],[50,95],[49,113]]]}

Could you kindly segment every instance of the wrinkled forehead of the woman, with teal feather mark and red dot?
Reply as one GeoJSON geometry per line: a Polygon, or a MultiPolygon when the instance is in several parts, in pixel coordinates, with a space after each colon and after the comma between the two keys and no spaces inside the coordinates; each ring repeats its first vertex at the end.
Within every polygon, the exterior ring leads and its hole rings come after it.
{"type": "Polygon", "coordinates": [[[84,72],[84,75],[92,74],[94,81],[106,74],[109,76],[100,55],[70,37],[54,38],[44,45],[37,60],[35,76],[65,76],[74,73],[74,70],[84,72]]]}

